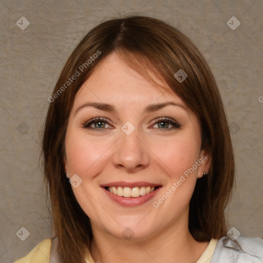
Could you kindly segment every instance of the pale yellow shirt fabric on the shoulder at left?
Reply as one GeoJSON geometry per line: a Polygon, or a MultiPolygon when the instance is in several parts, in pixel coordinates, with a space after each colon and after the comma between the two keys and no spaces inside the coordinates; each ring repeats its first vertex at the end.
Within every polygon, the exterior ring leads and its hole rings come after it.
{"type": "Polygon", "coordinates": [[[16,260],[14,263],[49,263],[51,239],[44,239],[33,248],[25,257],[16,260]]]}

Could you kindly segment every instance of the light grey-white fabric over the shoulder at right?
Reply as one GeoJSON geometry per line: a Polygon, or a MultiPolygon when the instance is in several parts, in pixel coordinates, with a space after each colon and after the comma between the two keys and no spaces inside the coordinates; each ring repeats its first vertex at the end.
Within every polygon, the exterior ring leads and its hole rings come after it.
{"type": "Polygon", "coordinates": [[[211,263],[262,263],[263,240],[260,238],[238,237],[231,240],[228,236],[217,242],[211,263]]]}

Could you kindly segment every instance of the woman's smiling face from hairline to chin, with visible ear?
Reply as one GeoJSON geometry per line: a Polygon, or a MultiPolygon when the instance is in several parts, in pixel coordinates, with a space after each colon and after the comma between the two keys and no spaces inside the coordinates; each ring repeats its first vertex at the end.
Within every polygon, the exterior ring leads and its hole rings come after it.
{"type": "Polygon", "coordinates": [[[112,53],[78,91],[65,172],[93,230],[140,239],[175,225],[187,229],[189,202],[209,158],[197,118],[169,90],[112,53]]]}

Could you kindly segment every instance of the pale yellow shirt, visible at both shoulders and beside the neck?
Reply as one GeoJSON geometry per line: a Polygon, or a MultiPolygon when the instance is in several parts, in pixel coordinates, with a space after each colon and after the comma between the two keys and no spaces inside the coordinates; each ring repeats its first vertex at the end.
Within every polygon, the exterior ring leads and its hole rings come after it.
{"type": "MultiPolygon", "coordinates": [[[[208,247],[205,249],[201,257],[196,263],[210,263],[212,256],[214,254],[217,239],[211,239],[208,247]]],[[[39,243],[34,249],[29,252],[29,254],[21,259],[16,260],[14,263],[50,263],[50,248],[51,239],[45,239],[39,243]]],[[[88,253],[87,263],[95,263],[90,253],[88,253]]]]}

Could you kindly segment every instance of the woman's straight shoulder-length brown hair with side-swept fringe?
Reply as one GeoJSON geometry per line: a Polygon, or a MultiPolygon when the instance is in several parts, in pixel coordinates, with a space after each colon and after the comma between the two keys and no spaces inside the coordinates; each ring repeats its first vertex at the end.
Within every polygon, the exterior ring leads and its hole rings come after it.
{"type": "Polygon", "coordinates": [[[49,97],[42,154],[62,263],[85,262],[92,240],[90,220],[74,197],[64,171],[68,118],[77,91],[112,52],[145,78],[152,79],[154,74],[164,80],[197,116],[202,148],[210,155],[211,165],[208,175],[197,180],[190,201],[189,230],[198,241],[227,233],[224,209],[231,196],[235,165],[228,122],[213,74],[198,49],[177,29],[154,18],[127,16],[103,22],[81,40],[49,97]],[[174,77],[179,69],[188,75],[182,83],[174,77]],[[80,75],[68,83],[77,71],[80,75]]]}

